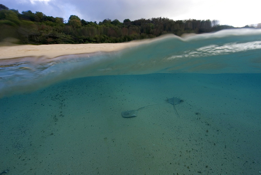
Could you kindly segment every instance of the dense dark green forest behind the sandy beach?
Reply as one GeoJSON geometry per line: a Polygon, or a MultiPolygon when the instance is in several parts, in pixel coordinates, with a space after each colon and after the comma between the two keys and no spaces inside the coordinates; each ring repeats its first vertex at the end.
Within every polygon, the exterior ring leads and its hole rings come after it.
{"type": "MultiPolygon", "coordinates": [[[[79,44],[117,43],[153,38],[163,34],[181,36],[184,33],[200,34],[233,26],[220,25],[218,20],[172,20],[168,18],[104,19],[100,22],[85,21],[71,15],[63,18],[46,16],[42,12],[9,9],[0,4],[0,41],[15,38],[18,44],[79,44]]],[[[13,40],[14,41],[14,40],[13,40]]]]}

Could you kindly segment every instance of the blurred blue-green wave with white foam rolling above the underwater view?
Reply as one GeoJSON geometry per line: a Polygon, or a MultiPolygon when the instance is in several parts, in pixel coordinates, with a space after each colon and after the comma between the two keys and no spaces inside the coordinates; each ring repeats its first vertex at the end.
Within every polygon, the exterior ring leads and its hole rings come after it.
{"type": "Polygon", "coordinates": [[[165,35],[116,52],[1,59],[0,97],[85,76],[261,73],[260,53],[260,29],[229,29],[183,38],[165,35]]]}

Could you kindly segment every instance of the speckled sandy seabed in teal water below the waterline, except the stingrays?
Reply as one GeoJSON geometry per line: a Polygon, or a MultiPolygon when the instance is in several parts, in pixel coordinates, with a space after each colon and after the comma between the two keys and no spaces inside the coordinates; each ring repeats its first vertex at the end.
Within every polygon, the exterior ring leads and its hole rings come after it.
{"type": "Polygon", "coordinates": [[[258,79],[260,74],[98,76],[0,99],[0,171],[257,174],[258,79]],[[180,118],[166,97],[184,100],[175,105],[180,118]],[[121,116],[153,104],[160,105],[121,116]]]}

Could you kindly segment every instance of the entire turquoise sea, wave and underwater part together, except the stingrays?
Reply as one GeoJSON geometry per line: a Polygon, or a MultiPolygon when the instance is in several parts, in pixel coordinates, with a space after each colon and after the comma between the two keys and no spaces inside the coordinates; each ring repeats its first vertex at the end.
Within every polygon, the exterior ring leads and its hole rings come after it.
{"type": "Polygon", "coordinates": [[[260,30],[224,30],[2,60],[0,172],[259,174],[260,53],[260,30]]]}

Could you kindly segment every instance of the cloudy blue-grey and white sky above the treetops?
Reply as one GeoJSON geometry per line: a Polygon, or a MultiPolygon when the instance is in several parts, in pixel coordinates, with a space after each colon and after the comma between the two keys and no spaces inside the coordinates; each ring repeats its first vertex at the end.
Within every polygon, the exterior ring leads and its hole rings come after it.
{"type": "Polygon", "coordinates": [[[243,27],[261,23],[261,0],[1,0],[9,9],[43,12],[68,20],[77,15],[86,21],[136,20],[167,17],[173,20],[217,19],[220,24],[243,27]]]}

